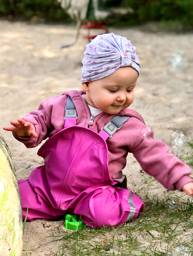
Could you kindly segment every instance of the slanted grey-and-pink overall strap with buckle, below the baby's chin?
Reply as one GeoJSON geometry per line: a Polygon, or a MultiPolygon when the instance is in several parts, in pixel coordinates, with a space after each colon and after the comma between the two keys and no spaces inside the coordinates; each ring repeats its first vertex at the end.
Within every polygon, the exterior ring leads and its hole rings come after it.
{"type": "Polygon", "coordinates": [[[109,120],[108,124],[101,128],[99,134],[104,138],[104,140],[111,138],[113,133],[119,130],[129,117],[130,116],[114,116],[109,120]]]}

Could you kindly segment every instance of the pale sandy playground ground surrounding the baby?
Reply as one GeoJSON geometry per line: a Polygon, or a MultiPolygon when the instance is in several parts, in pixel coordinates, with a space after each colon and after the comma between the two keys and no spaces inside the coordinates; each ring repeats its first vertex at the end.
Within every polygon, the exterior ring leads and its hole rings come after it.
{"type": "MultiPolygon", "coordinates": [[[[72,47],[58,49],[59,44],[70,43],[75,32],[74,25],[35,25],[0,20],[0,132],[11,150],[18,180],[27,178],[43,161],[36,155],[37,148],[25,148],[3,127],[37,109],[46,98],[65,90],[81,89],[81,59],[84,45],[88,43],[83,35],[87,31],[81,30],[78,42],[72,47]]],[[[155,139],[163,140],[169,147],[171,134],[177,129],[186,138],[192,138],[193,35],[147,31],[143,27],[111,27],[110,32],[131,39],[142,64],[131,108],[138,111],[146,125],[154,130],[155,139]],[[183,51],[187,67],[172,73],[167,60],[176,50],[183,51]]],[[[147,176],[140,169],[135,159],[128,156],[124,173],[129,177],[128,187],[134,192],[147,176]]],[[[160,197],[164,190],[160,184],[156,189],[152,187],[152,193],[160,197]]],[[[56,253],[58,242],[50,243],[52,238],[45,237],[58,235],[61,230],[65,230],[63,219],[26,223],[22,256],[26,255],[28,239],[28,251],[36,248],[32,256],[56,253]]]]}

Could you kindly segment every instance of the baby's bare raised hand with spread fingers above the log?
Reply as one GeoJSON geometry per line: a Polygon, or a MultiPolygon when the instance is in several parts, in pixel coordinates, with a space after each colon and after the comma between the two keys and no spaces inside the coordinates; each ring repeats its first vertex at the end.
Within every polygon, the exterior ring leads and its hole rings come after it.
{"type": "Polygon", "coordinates": [[[18,121],[12,121],[11,124],[13,127],[4,127],[5,131],[15,132],[15,134],[19,137],[34,137],[37,138],[37,134],[35,132],[35,127],[32,123],[26,122],[23,119],[18,119],[18,121]]]}

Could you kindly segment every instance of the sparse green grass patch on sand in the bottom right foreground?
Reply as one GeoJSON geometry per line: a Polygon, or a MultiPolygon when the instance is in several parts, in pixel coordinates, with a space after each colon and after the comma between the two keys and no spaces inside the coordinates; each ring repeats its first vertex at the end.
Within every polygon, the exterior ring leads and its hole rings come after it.
{"type": "Polygon", "coordinates": [[[174,196],[176,206],[170,209],[167,192],[164,201],[149,195],[146,202],[149,210],[119,227],[65,230],[61,236],[53,236],[60,245],[58,252],[49,256],[177,256],[175,248],[180,245],[193,255],[193,202],[192,198],[186,201],[183,197],[185,194],[174,196]]]}

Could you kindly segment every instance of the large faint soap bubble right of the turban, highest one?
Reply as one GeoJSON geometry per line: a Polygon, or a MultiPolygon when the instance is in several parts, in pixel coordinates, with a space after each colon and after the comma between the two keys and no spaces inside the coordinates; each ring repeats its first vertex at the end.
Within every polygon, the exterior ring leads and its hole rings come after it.
{"type": "Polygon", "coordinates": [[[182,55],[182,51],[177,51],[168,59],[171,72],[178,73],[187,67],[186,59],[182,55]]]}

